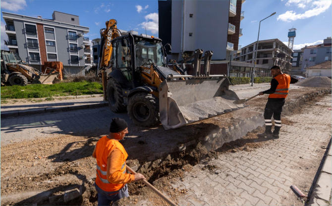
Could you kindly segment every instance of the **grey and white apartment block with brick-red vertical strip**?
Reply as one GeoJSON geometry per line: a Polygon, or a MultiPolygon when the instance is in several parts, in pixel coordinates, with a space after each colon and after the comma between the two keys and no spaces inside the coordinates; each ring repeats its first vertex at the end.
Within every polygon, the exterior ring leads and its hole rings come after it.
{"type": "Polygon", "coordinates": [[[23,61],[41,70],[45,61],[61,61],[65,74],[84,75],[91,66],[89,27],[79,16],[54,11],[52,19],[2,12],[8,40],[5,45],[23,61]]]}

